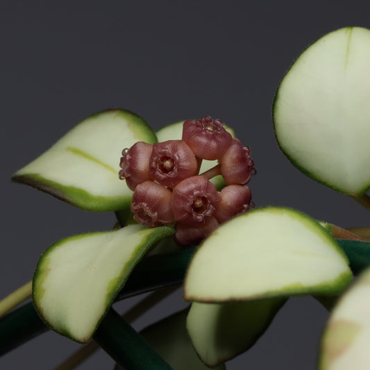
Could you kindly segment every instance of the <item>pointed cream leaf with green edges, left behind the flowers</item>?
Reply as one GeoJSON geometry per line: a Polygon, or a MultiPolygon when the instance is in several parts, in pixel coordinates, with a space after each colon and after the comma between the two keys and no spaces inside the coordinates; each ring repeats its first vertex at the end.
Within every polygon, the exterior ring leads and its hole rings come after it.
{"type": "Polygon", "coordinates": [[[128,207],[132,192],[118,178],[122,149],[156,141],[146,122],[126,110],[87,117],[12,180],[92,211],[128,207]]]}

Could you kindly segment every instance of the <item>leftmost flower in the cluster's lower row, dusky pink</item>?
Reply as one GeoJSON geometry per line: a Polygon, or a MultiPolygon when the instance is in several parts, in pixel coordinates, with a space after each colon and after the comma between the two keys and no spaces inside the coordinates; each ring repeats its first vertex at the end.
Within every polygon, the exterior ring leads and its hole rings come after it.
{"type": "Polygon", "coordinates": [[[171,224],[174,222],[171,197],[171,190],[153,181],[137,185],[131,201],[131,211],[135,214],[135,220],[150,228],[171,224]]]}

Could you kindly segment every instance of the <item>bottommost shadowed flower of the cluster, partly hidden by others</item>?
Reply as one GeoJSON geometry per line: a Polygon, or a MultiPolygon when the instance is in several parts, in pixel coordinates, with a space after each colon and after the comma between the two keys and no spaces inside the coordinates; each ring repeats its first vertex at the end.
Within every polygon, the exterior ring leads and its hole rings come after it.
{"type": "Polygon", "coordinates": [[[176,242],[182,246],[198,244],[218,226],[219,223],[215,217],[208,217],[204,224],[185,224],[184,222],[177,222],[175,233],[176,242]]]}

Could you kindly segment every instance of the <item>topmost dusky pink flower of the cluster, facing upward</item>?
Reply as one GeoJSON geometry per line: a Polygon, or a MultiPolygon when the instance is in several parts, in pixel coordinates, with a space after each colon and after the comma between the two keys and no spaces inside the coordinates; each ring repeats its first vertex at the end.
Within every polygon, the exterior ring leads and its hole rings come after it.
{"type": "Polygon", "coordinates": [[[183,124],[183,140],[199,158],[205,160],[215,160],[223,155],[231,139],[232,136],[219,119],[208,116],[183,124]]]}

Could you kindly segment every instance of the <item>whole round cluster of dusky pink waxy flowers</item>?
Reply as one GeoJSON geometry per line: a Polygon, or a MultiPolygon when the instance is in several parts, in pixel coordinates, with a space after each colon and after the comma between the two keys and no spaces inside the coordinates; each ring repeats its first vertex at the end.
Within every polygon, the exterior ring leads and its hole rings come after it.
{"type": "Polygon", "coordinates": [[[131,211],[149,227],[176,222],[176,241],[188,245],[219,224],[251,208],[245,184],[255,174],[251,150],[228,133],[219,119],[185,121],[182,140],[137,142],[122,151],[119,178],[133,190],[131,211]],[[202,160],[218,165],[199,175],[202,160]],[[221,175],[217,192],[210,178],[221,175]]]}

